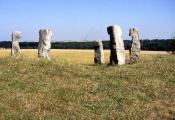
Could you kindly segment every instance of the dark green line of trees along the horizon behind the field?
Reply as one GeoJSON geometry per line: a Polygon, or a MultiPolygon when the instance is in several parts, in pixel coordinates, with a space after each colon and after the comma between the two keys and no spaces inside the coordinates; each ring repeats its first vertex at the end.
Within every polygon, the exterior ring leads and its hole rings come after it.
{"type": "MultiPolygon", "coordinates": [[[[104,40],[103,48],[110,49],[109,40],[104,40]]],[[[140,40],[141,50],[151,51],[172,51],[175,50],[175,42],[173,39],[154,39],[154,40],[140,40]]],[[[94,42],[52,42],[51,49],[93,49],[94,42]]],[[[19,42],[21,49],[37,49],[38,42],[19,42]]],[[[125,50],[131,48],[131,40],[124,40],[125,50]]],[[[11,48],[11,41],[0,41],[0,48],[11,48]]]]}

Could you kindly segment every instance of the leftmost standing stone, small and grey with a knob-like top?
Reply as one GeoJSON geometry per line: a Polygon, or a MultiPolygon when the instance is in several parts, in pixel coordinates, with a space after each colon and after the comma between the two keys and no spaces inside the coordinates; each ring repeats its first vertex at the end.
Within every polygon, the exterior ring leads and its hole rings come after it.
{"type": "Polygon", "coordinates": [[[11,55],[17,56],[20,54],[20,47],[18,39],[21,38],[21,33],[18,31],[15,31],[12,33],[12,49],[11,49],[11,55]]]}

